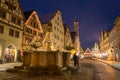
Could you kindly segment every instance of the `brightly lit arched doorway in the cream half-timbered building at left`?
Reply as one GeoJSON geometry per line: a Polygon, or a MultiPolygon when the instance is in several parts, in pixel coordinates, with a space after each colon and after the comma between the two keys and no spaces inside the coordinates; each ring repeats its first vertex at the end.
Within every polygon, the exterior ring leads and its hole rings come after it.
{"type": "Polygon", "coordinates": [[[9,45],[6,49],[5,49],[5,53],[4,53],[4,62],[14,62],[16,61],[16,47],[14,45],[9,45]]]}

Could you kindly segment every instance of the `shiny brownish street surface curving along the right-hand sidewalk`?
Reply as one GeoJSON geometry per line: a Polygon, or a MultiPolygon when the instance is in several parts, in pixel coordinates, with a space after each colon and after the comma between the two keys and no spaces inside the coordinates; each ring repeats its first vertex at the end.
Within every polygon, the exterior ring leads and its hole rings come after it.
{"type": "Polygon", "coordinates": [[[93,80],[120,80],[120,71],[98,60],[82,60],[81,65],[94,69],[93,80]]]}

